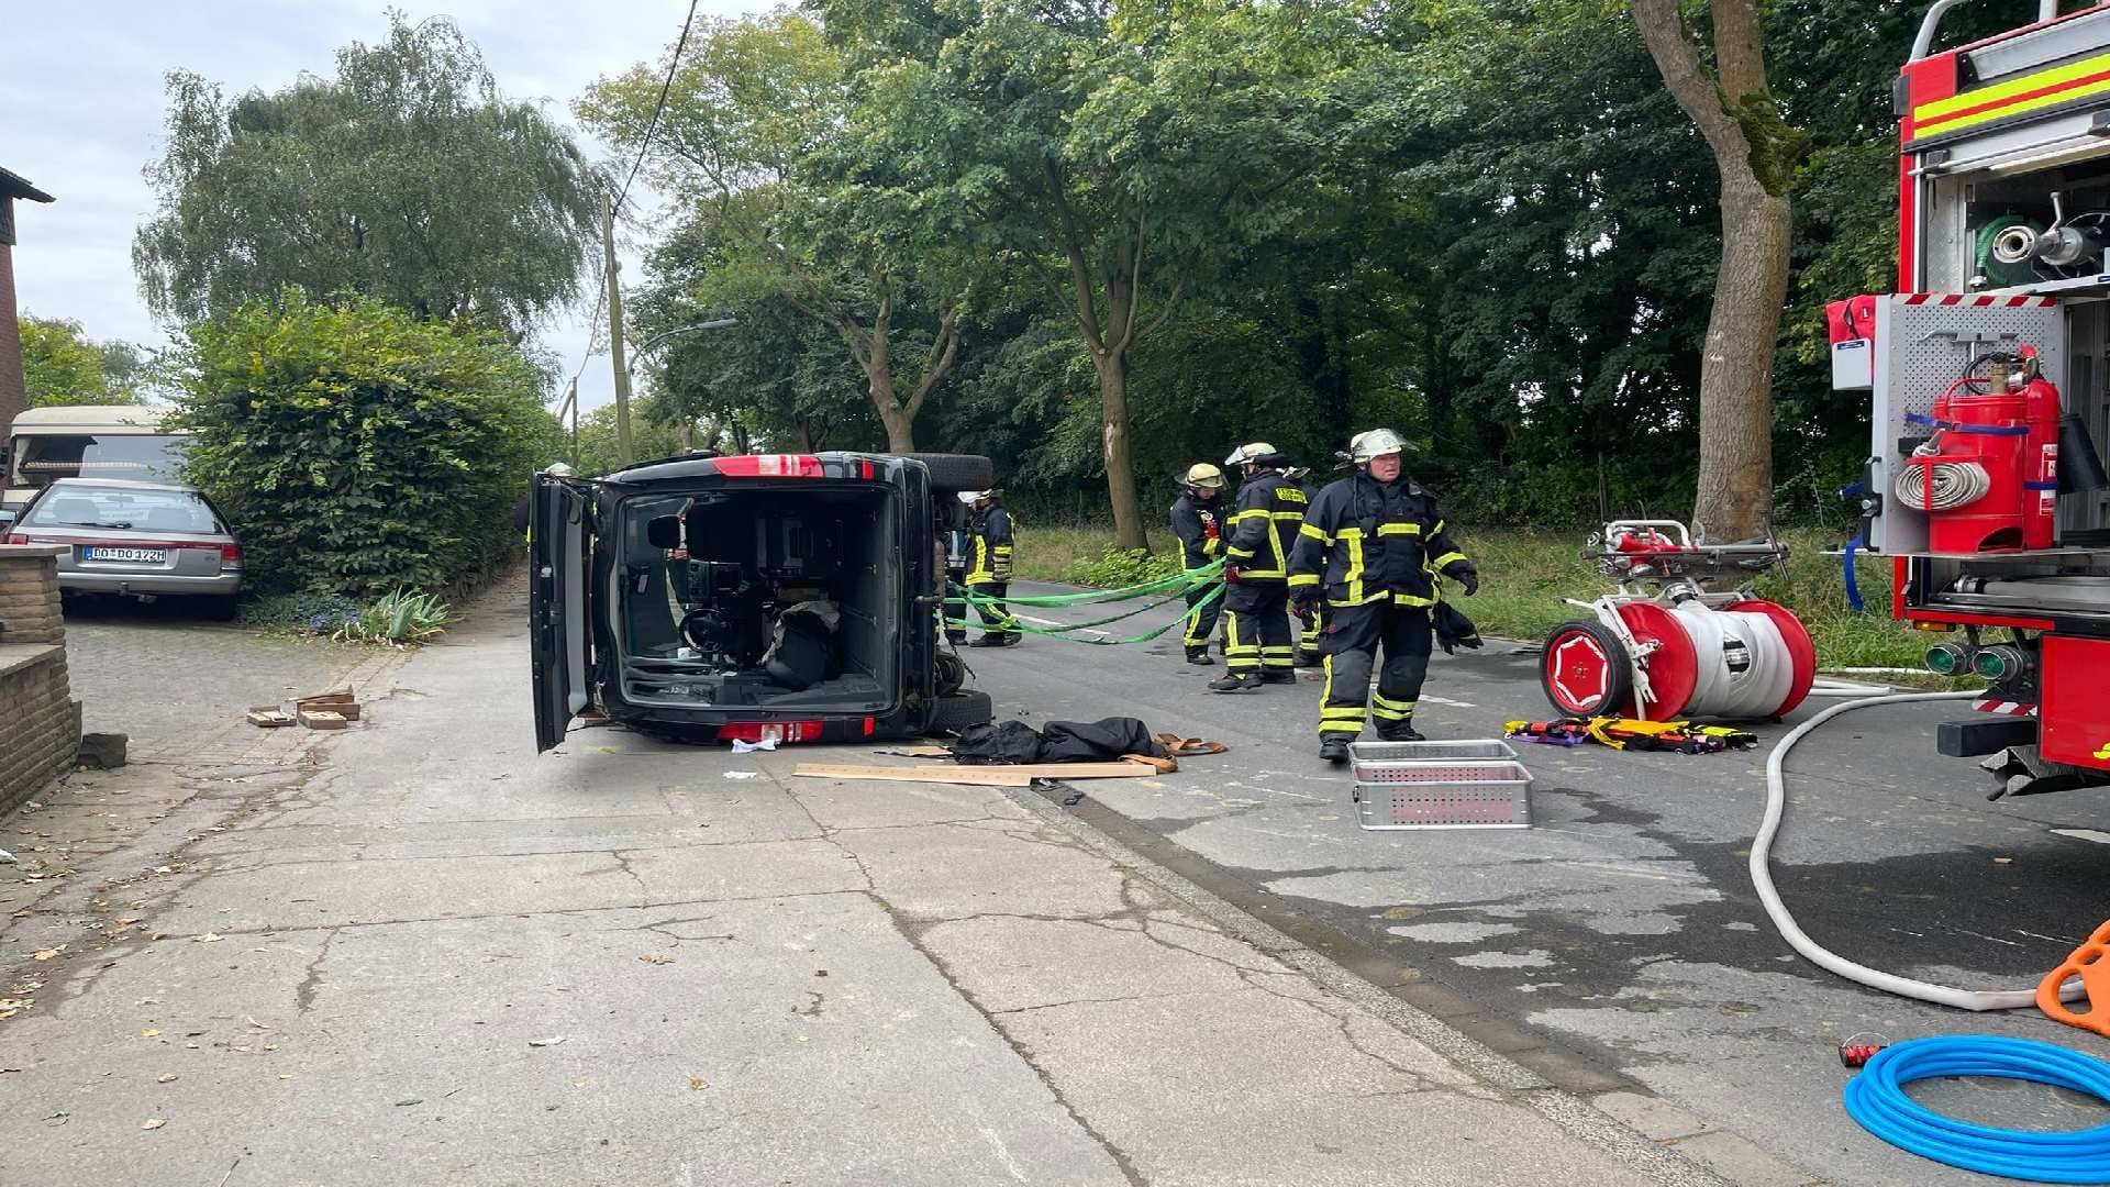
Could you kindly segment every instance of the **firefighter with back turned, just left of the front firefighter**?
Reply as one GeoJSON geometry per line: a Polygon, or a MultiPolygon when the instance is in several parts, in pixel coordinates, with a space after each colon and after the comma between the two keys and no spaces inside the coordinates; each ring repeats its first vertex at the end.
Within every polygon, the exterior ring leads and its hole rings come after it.
{"type": "Polygon", "coordinates": [[[1289,549],[1304,522],[1304,492],[1283,477],[1289,458],[1266,441],[1239,446],[1224,465],[1245,473],[1224,545],[1224,663],[1213,693],[1293,684],[1289,642],[1289,549]]]}

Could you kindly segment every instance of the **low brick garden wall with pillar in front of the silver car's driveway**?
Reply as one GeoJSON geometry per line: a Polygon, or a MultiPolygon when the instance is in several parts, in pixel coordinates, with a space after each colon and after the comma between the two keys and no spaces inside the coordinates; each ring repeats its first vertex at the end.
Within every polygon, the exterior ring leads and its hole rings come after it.
{"type": "Polygon", "coordinates": [[[0,811],[74,767],[80,705],[65,680],[61,547],[0,545],[0,811]]]}

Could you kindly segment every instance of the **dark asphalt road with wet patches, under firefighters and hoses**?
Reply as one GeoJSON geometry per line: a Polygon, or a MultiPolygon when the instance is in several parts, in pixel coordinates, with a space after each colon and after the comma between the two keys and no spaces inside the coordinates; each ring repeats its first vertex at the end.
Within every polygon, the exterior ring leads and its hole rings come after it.
{"type": "MultiPolygon", "coordinates": [[[[1213,784],[1089,788],[1171,858],[1192,855],[1226,887],[1365,946],[1378,978],[1401,982],[1395,993],[1559,1084],[1639,1084],[1812,1174],[1981,1181],[1897,1153],[1844,1115],[1836,1045],[1853,1033],[2004,1033],[2110,1056],[2110,1041],[2036,1012],[1920,1005],[1796,957],[1745,868],[1766,750],[1523,748],[1534,828],[1367,832],[1346,775],[1317,758],[1315,680],[1211,695],[1203,684],[1222,670],[1182,663],[1175,636],[1142,646],[1030,636],[966,655],[1002,716],[1139,716],[1226,741],[1230,754],[1188,765],[1215,771],[1213,784]]],[[[1935,724],[1969,712],[1874,708],[1798,746],[1777,881],[1802,927],[1853,959],[1948,984],[2030,986],[2110,917],[2110,813],[2099,792],[1988,803],[1983,773],[1935,752],[1935,724]]],[[[1500,737],[1502,720],[1547,714],[1536,659],[1492,644],[1439,653],[1416,720],[1431,737],[1500,737]]],[[[1760,729],[1768,748],[1785,731],[1760,729]]],[[[1924,1100],[1990,1124],[2110,1119],[2099,1103],[1998,1081],[1929,1086],[1924,1100]]]]}

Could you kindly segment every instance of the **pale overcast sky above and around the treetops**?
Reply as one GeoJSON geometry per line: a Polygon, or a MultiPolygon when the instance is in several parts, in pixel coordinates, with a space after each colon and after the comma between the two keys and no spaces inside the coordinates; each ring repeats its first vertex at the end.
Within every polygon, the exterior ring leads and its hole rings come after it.
{"type": "MultiPolygon", "coordinates": [[[[572,125],[572,99],[603,74],[656,59],[682,32],[688,0],[87,0],[8,4],[0,36],[0,169],[55,205],[17,203],[15,287],[25,313],[70,317],[91,338],[167,342],[139,300],[133,230],[154,211],[139,169],[162,150],[162,74],[192,70],[241,93],[276,89],[300,72],[331,76],[333,51],[386,34],[386,8],[411,23],[447,15],[483,49],[500,91],[540,99],[572,125]]],[[[703,0],[696,19],[755,8],[703,0]]],[[[593,137],[595,161],[612,152],[593,137]]],[[[637,188],[633,188],[633,199],[637,188]]],[[[635,285],[637,251],[625,251],[635,285]]],[[[559,315],[540,342],[570,376],[587,351],[593,291],[559,315]]],[[[580,397],[610,399],[608,355],[587,365],[580,397]]]]}

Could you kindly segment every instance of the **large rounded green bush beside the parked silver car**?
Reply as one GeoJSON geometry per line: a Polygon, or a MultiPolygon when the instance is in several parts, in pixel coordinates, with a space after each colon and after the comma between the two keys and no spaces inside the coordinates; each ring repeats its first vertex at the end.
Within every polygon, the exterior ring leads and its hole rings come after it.
{"type": "Polygon", "coordinates": [[[542,378],[504,338],[300,289],[192,325],[188,475],[262,589],[449,589],[521,547],[513,505],[559,456],[542,378]]]}

